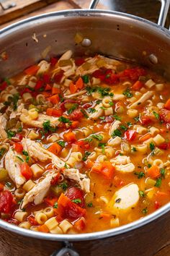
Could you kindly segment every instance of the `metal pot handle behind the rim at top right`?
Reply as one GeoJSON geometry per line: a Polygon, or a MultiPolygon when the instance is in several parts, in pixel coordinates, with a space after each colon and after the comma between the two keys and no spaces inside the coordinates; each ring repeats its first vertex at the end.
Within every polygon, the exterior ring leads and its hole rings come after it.
{"type": "MultiPolygon", "coordinates": [[[[89,5],[89,9],[95,9],[98,3],[99,3],[99,0],[92,0],[89,5]]],[[[158,17],[158,25],[162,27],[164,27],[166,22],[166,17],[169,11],[169,4],[170,4],[170,0],[161,0],[161,10],[158,17]]]]}

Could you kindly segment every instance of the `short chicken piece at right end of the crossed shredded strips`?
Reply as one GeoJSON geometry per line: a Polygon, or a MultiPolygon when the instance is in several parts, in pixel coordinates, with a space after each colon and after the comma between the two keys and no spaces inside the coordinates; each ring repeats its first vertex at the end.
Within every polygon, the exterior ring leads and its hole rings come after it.
{"type": "Polygon", "coordinates": [[[78,182],[81,189],[86,193],[90,192],[90,179],[86,174],[81,174],[78,169],[68,168],[63,171],[63,175],[68,177],[68,179],[73,179],[78,182]]]}

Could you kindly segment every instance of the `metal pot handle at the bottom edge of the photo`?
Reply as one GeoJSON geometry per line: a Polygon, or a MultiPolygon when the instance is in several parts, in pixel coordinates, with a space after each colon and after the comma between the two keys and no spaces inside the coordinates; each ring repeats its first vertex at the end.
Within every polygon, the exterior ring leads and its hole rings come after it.
{"type": "Polygon", "coordinates": [[[63,242],[64,247],[56,250],[50,256],[80,256],[75,249],[73,249],[73,245],[70,242],[63,242]]]}

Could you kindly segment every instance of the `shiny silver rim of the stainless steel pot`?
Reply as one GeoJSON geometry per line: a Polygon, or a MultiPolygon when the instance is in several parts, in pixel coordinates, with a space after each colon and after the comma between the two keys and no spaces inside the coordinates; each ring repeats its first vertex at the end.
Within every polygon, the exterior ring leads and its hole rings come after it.
{"type": "MultiPolygon", "coordinates": [[[[169,30],[156,23],[145,20],[141,17],[134,16],[132,14],[125,14],[122,12],[115,11],[107,11],[102,9],[73,9],[66,10],[60,12],[50,12],[48,14],[40,14],[34,17],[30,17],[24,19],[22,21],[16,22],[12,25],[4,27],[0,30],[0,38],[3,38],[6,35],[10,35],[14,33],[16,29],[20,29],[21,27],[27,27],[28,23],[36,23],[40,22],[43,19],[49,18],[60,18],[60,17],[121,17],[125,20],[135,20],[140,25],[147,25],[151,29],[155,29],[157,33],[161,35],[165,35],[167,38],[170,38],[169,30]]],[[[117,236],[120,234],[125,234],[128,231],[133,231],[133,229],[138,229],[141,226],[144,226],[151,221],[155,221],[157,218],[163,216],[164,214],[170,211],[170,202],[156,210],[154,213],[149,214],[146,217],[140,218],[138,221],[133,221],[132,223],[128,223],[126,225],[117,227],[115,229],[107,229],[104,231],[97,231],[93,233],[85,233],[85,234],[45,234],[42,232],[35,232],[27,229],[22,229],[19,226],[12,225],[7,223],[6,221],[0,220],[0,227],[6,229],[7,231],[12,231],[14,233],[30,236],[36,239],[44,239],[51,241],[86,241],[86,240],[94,240],[94,239],[104,239],[110,236],[117,236]]]]}

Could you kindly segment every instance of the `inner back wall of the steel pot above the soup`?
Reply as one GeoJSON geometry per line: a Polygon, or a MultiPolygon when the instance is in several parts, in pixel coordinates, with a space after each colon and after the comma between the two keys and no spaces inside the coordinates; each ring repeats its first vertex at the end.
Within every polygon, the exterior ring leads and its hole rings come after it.
{"type": "Polygon", "coordinates": [[[133,60],[170,77],[169,39],[166,30],[125,14],[85,10],[46,14],[1,30],[0,54],[5,51],[8,59],[0,61],[0,77],[17,74],[40,61],[48,46],[47,58],[68,49],[75,54],[101,53],[133,60]],[[89,38],[91,46],[76,45],[76,33],[89,38]],[[34,34],[38,42],[32,39],[34,34]],[[151,54],[157,56],[157,64],[149,61],[151,54]]]}

